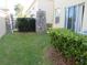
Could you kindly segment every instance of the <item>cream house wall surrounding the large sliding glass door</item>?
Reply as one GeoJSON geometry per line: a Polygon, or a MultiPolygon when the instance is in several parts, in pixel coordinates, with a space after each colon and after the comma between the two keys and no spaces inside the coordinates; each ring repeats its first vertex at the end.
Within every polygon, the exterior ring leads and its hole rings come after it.
{"type": "Polygon", "coordinates": [[[65,8],[76,6],[85,2],[85,15],[83,21],[83,30],[87,30],[87,0],[55,0],[55,9],[61,9],[61,21],[56,25],[54,22],[54,28],[64,28],[65,21],[65,8]]]}

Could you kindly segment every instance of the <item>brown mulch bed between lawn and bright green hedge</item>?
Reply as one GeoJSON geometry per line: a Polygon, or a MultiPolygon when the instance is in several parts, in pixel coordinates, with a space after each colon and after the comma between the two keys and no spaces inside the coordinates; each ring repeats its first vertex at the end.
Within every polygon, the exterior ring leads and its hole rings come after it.
{"type": "Polygon", "coordinates": [[[75,65],[75,61],[66,59],[54,47],[48,47],[46,56],[53,62],[54,65],[75,65]]]}

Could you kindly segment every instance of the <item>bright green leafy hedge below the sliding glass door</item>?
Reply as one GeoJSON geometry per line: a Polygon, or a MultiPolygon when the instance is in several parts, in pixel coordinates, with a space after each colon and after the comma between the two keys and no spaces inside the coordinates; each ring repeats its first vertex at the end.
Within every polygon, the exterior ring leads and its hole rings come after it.
{"type": "Polygon", "coordinates": [[[87,46],[83,44],[83,35],[66,29],[51,30],[51,44],[66,58],[74,58],[76,65],[87,65],[87,46]]]}

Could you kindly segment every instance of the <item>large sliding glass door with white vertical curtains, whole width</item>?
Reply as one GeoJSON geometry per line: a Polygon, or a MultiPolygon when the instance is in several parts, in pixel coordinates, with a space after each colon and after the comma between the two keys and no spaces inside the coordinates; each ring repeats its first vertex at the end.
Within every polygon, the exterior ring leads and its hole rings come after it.
{"type": "Polygon", "coordinates": [[[79,32],[83,28],[85,4],[78,4],[65,9],[65,26],[69,30],[79,32]]]}

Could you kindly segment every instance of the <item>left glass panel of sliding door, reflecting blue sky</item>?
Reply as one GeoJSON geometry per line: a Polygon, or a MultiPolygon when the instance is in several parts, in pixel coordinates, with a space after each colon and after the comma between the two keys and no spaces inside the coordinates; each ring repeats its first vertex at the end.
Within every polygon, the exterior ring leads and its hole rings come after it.
{"type": "Polygon", "coordinates": [[[66,9],[66,28],[70,30],[75,30],[75,17],[76,17],[76,11],[75,7],[70,7],[66,9]]]}

